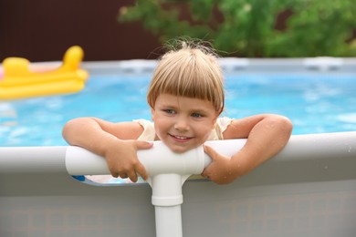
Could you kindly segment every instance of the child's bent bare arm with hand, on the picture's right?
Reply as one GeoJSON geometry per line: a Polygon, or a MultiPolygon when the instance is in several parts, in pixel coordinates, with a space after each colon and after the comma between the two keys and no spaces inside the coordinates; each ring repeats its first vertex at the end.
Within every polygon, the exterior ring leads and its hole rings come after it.
{"type": "Polygon", "coordinates": [[[202,175],[225,184],[245,175],[283,149],[292,131],[292,123],[278,115],[257,115],[234,120],[225,130],[224,139],[247,139],[243,149],[228,158],[204,146],[213,160],[202,175]]]}

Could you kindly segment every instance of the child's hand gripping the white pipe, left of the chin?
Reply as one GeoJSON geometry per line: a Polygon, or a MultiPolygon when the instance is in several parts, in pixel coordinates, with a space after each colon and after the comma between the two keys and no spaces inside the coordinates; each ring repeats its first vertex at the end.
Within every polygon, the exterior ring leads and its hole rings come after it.
{"type": "Polygon", "coordinates": [[[146,180],[148,175],[137,158],[137,151],[139,149],[151,149],[152,145],[153,143],[139,140],[120,140],[110,144],[106,149],[105,158],[111,175],[116,178],[129,178],[136,182],[138,180],[137,174],[139,174],[143,180],[146,180]]]}

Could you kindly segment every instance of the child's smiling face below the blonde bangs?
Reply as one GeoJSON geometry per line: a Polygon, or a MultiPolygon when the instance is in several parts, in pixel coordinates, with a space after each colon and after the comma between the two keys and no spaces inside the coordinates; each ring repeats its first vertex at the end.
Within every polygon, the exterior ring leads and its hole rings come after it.
{"type": "Polygon", "coordinates": [[[217,117],[213,103],[199,98],[162,94],[152,108],[158,138],[177,153],[202,145],[217,117]]]}

